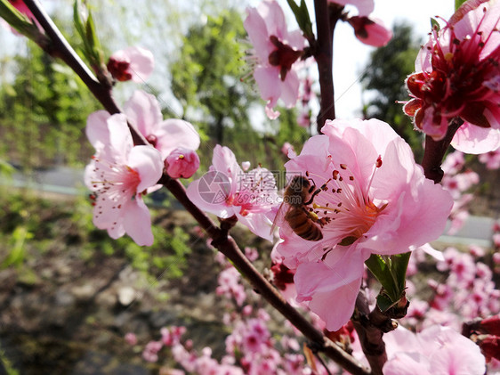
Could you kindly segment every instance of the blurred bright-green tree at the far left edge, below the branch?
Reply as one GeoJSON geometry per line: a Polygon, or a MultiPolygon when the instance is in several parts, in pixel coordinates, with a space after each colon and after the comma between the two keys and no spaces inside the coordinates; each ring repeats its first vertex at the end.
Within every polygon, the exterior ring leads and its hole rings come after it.
{"type": "Polygon", "coordinates": [[[82,164],[91,155],[86,117],[99,103],[75,73],[32,42],[0,86],[0,132],[7,159],[23,168],[82,164]],[[85,150],[85,152],[83,152],[85,150]]]}

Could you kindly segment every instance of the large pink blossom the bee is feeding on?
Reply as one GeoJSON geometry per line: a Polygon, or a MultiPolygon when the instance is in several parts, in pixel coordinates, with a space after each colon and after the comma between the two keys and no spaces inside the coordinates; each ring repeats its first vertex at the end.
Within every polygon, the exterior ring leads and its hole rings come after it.
{"type": "Polygon", "coordinates": [[[453,200],[425,179],[407,143],[388,124],[334,120],[322,132],[285,167],[320,189],[309,208],[323,238],[303,240],[283,220],[276,251],[296,269],[297,301],[307,303],[327,330],[338,330],[351,317],[365,260],[439,237],[453,200]]]}

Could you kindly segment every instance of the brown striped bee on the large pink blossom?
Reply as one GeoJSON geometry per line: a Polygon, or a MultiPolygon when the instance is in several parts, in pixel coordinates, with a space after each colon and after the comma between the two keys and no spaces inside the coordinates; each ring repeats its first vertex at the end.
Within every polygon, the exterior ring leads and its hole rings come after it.
{"type": "Polygon", "coordinates": [[[312,203],[312,200],[321,192],[322,188],[317,189],[316,184],[310,183],[309,178],[302,175],[294,176],[292,181],[286,186],[283,203],[278,208],[271,232],[276,226],[278,218],[284,215],[286,223],[302,239],[322,240],[323,233],[320,226],[323,226],[327,221],[319,219],[318,215],[306,207],[312,203]],[[319,225],[316,223],[319,223],[319,225]]]}

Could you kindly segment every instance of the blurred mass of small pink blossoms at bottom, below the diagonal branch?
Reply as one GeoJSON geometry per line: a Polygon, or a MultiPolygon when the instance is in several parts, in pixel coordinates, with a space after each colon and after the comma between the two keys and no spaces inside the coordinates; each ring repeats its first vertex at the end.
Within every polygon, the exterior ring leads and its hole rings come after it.
{"type": "MultiPolygon", "coordinates": [[[[256,259],[254,249],[246,249],[246,254],[256,259]]],[[[301,345],[295,337],[296,331],[291,328],[286,332],[281,330],[280,338],[270,331],[270,315],[258,304],[253,291],[245,288],[240,278],[225,275],[230,270],[238,273],[230,263],[222,257],[217,257],[223,271],[219,277],[219,287],[225,301],[226,312],[224,324],[230,328],[230,335],[225,339],[226,353],[220,361],[213,358],[210,347],[204,347],[199,352],[193,346],[191,339],[182,340],[184,327],[169,327],[160,330],[161,338],[149,341],[142,350],[142,358],[148,362],[158,362],[159,358],[172,357],[177,363],[176,369],[162,369],[165,373],[181,375],[192,373],[197,375],[227,374],[227,375],[309,375],[312,373],[327,375],[327,371],[319,363],[314,363],[316,371],[312,371],[306,363],[304,355],[300,354],[301,345]],[[242,298],[243,296],[243,298],[242,298]],[[166,349],[166,350],[165,350],[166,349]],[[181,369],[179,369],[181,368],[181,369]]],[[[125,335],[125,341],[137,345],[133,333],[125,335]]],[[[330,371],[338,371],[334,363],[328,364],[330,371]]],[[[163,373],[163,372],[162,372],[163,373]]]]}

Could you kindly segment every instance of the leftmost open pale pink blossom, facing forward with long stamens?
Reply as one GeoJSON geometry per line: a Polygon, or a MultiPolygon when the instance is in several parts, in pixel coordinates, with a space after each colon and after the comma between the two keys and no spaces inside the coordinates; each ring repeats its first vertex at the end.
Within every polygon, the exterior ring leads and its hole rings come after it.
{"type": "Polygon", "coordinates": [[[123,114],[94,112],[85,131],[96,150],[85,167],[85,184],[93,191],[93,224],[113,239],[126,232],[138,245],[151,245],[151,218],[142,195],[162,175],[160,153],[151,146],[133,146],[123,114]]]}

